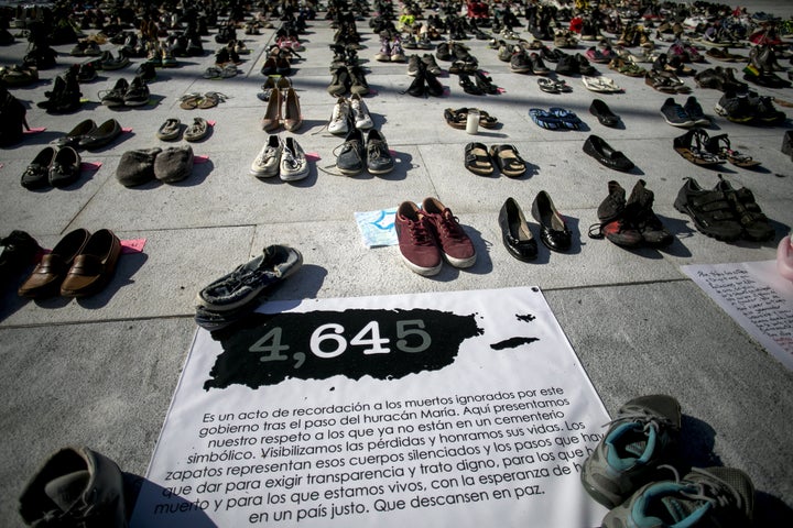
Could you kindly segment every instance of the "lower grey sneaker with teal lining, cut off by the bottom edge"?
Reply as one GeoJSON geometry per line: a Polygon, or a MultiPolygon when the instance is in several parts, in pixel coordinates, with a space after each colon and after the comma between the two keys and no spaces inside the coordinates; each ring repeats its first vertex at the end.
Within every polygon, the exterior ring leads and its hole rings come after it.
{"type": "MultiPolygon", "coordinates": [[[[671,468],[670,468],[671,469],[671,468]]],[[[606,515],[602,528],[742,528],[751,526],[754,486],[732,468],[692,469],[683,480],[653,482],[606,515]]]]}

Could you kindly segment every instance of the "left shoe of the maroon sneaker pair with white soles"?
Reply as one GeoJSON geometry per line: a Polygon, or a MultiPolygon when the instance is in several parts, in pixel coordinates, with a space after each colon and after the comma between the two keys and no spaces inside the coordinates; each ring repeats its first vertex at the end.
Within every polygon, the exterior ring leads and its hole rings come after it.
{"type": "Polygon", "coordinates": [[[400,253],[405,265],[426,277],[441,271],[443,260],[427,217],[412,201],[403,201],[394,221],[400,253]]]}

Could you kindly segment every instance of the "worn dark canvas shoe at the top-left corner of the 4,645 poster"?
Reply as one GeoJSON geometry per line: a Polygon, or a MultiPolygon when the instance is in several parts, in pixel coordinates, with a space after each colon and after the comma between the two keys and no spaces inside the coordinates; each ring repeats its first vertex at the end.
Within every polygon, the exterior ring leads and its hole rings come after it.
{"type": "Polygon", "coordinates": [[[303,265],[300,251],[286,245],[270,245],[262,254],[214,280],[196,295],[197,306],[215,311],[240,308],[265,288],[293,275],[303,265]]]}

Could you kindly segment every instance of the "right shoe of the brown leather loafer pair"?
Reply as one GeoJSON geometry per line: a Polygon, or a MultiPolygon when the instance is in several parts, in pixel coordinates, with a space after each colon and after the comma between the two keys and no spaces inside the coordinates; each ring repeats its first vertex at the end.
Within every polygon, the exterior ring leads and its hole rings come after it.
{"type": "Polygon", "coordinates": [[[109,229],[90,235],[61,285],[64,297],[86,297],[99,292],[116,271],[121,241],[109,229]]]}

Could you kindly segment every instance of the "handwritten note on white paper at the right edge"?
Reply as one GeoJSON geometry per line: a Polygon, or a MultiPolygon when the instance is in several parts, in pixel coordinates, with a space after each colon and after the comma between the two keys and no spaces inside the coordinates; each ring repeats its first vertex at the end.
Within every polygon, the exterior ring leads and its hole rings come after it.
{"type": "Polygon", "coordinates": [[[774,261],[682,266],[727,314],[793,370],[793,283],[774,261]]]}

